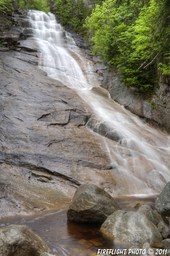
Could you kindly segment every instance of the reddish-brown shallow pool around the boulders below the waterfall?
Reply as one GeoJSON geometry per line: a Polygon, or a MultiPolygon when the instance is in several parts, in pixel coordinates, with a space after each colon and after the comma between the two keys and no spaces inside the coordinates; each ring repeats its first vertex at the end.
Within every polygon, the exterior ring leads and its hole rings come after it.
{"type": "MultiPolygon", "coordinates": [[[[154,204],[155,198],[124,197],[116,200],[124,210],[140,204],[154,204]]],[[[128,248],[104,237],[99,232],[100,224],[81,224],[67,220],[67,209],[39,212],[35,215],[17,215],[0,220],[0,227],[10,224],[25,225],[40,236],[57,256],[89,256],[98,249],[128,248]]]]}

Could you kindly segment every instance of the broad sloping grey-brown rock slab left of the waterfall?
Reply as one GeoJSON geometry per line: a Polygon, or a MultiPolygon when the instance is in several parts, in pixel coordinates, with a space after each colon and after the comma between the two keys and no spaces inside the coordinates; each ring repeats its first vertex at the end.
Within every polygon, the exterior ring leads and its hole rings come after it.
{"type": "Polygon", "coordinates": [[[91,110],[37,66],[37,50],[29,38],[0,54],[1,217],[68,205],[89,181],[111,194],[122,186],[102,137],[85,128],[91,110]]]}

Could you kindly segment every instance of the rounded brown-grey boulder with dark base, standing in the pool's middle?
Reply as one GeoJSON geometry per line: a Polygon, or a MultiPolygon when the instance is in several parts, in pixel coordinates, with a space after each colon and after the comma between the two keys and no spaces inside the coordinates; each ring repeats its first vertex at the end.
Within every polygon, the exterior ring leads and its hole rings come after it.
{"type": "Polygon", "coordinates": [[[83,184],[76,190],[67,211],[67,218],[76,222],[101,222],[121,209],[105,190],[93,184],[83,184]]]}

